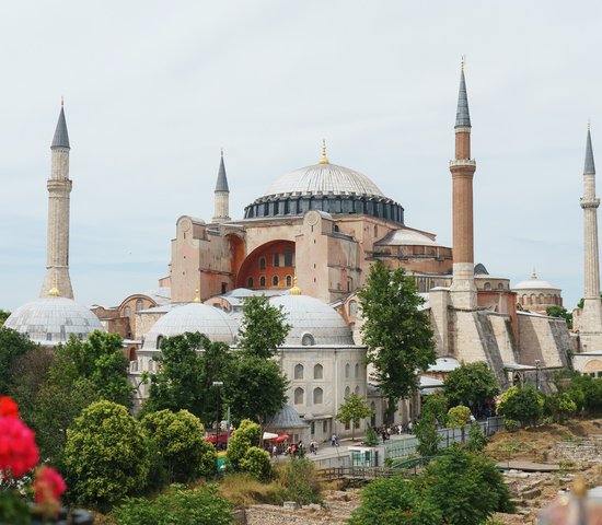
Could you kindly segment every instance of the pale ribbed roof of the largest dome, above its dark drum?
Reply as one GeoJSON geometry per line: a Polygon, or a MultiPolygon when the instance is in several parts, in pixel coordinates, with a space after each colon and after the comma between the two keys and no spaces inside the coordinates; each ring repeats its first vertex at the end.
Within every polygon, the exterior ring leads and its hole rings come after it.
{"type": "Polygon", "coordinates": [[[384,197],[379,187],[366,175],[336,164],[314,164],[296,170],[276,180],[264,197],[301,194],[316,195],[319,192],[333,195],[363,195],[384,197]]]}

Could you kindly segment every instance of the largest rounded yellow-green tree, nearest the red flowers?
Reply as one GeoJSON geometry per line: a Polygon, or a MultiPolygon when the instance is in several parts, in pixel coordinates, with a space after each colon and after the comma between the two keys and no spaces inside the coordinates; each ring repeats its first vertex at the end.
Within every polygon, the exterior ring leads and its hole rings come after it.
{"type": "Polygon", "coordinates": [[[70,497],[101,510],[144,489],[149,438],[123,405],[97,401],[67,432],[65,465],[70,497]]]}

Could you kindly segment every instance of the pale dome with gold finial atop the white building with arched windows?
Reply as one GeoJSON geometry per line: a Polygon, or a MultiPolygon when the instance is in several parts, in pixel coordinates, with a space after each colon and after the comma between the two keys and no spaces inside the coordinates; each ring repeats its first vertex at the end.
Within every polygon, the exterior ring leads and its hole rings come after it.
{"type": "Polygon", "coordinates": [[[309,295],[279,295],[270,303],[282,306],[292,325],[285,346],[354,345],[351,330],[326,303],[309,295]]]}

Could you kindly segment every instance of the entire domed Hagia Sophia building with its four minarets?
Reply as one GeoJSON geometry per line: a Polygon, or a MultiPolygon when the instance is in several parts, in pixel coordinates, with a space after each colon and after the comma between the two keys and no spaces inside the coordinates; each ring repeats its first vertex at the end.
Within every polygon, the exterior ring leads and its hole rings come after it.
{"type": "MultiPolygon", "coordinates": [[[[350,433],[334,417],[350,393],[367,396],[383,418],[383,397],[364,364],[361,312],[356,295],[371,265],[414,276],[425,299],[439,360],[425,374],[425,388],[441,385],[444,372],[460,362],[485,361],[502,388],[534,382],[542,387],[556,370],[602,375],[602,303],[595,197],[595,170],[588,129],[583,198],[584,302],[576,312],[576,330],[545,315],[562,306],[562,291],[533,271],[510,285],[474,260],[472,124],[464,68],[454,126],[452,177],[453,246],[435,233],[405,223],[404,207],[385,196],[368,176],[331,162],[323,143],[315,164],[277,178],[250,202],[241,219],[231,219],[223,152],[208,221],[182,215],[171,240],[166,276],[151,292],[125,298],[118,306],[91,310],[73,301],[69,278],[69,136],[61,107],[51,143],[47,182],[48,249],[39,299],[18,308],[5,326],[27,332],[44,346],[95,329],[124,338],[134,378],[155,372],[164,337],[200,331],[235,347],[244,299],[265,294],[282,308],[292,329],[280,349],[288,376],[287,421],[294,435],[322,441],[350,433]],[[572,363],[572,364],[571,364],[572,363]]],[[[450,141],[452,137],[450,136],[450,141]]],[[[478,175],[477,175],[478,176],[478,175]]],[[[138,404],[148,395],[142,386],[138,404]]],[[[403,400],[398,422],[419,411],[419,396],[403,400]]]]}

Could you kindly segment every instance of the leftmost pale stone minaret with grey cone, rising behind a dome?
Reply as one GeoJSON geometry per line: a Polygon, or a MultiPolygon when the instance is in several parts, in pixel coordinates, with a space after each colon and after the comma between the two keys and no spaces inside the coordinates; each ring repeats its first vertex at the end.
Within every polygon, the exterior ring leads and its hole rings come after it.
{"type": "Polygon", "coordinates": [[[48,247],[46,276],[40,298],[49,296],[50,290],[58,290],[63,298],[73,299],[69,277],[69,135],[65,121],[65,108],[60,107],[53,145],[53,165],[48,179],[48,247]]]}

